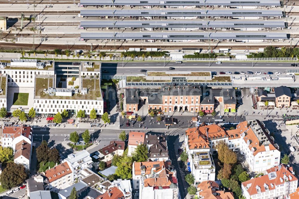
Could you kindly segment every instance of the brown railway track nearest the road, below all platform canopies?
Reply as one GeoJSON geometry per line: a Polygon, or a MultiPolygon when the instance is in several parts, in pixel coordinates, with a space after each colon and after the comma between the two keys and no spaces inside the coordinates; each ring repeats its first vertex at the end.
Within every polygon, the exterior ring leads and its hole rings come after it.
{"type": "MultiPolygon", "coordinates": [[[[247,46],[241,46],[241,45],[211,45],[211,49],[214,48],[229,48],[229,49],[240,49],[240,50],[247,50],[247,49],[259,49],[259,48],[266,48],[268,45],[247,45],[247,46]]],[[[275,45],[278,48],[281,47],[290,47],[289,45],[275,45]]],[[[181,48],[201,48],[201,49],[208,49],[209,45],[151,45],[151,46],[141,46],[141,45],[52,45],[52,44],[35,44],[33,47],[33,44],[16,44],[16,43],[0,43],[0,49],[1,50],[54,50],[54,49],[69,49],[69,50],[123,50],[128,48],[159,48],[159,49],[181,49],[181,48]]],[[[142,49],[141,48],[141,49],[142,49]]]]}

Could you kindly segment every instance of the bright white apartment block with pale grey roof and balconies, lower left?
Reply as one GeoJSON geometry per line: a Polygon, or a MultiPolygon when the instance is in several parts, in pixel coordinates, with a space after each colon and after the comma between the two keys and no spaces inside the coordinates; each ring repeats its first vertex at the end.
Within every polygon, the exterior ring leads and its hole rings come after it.
{"type": "Polygon", "coordinates": [[[79,151],[78,153],[69,154],[67,158],[62,160],[62,163],[68,163],[71,171],[72,177],[71,181],[75,181],[76,179],[80,179],[80,173],[85,168],[92,167],[92,160],[89,152],[86,150],[79,151]]]}

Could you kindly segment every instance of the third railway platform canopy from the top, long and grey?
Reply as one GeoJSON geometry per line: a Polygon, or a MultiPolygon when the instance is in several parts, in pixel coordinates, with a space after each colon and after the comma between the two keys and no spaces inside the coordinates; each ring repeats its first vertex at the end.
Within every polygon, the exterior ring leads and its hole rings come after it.
{"type": "Polygon", "coordinates": [[[252,20],[216,20],[216,21],[199,21],[199,20],[97,20],[81,21],[81,27],[85,28],[285,28],[283,21],[252,21],[252,20]]]}

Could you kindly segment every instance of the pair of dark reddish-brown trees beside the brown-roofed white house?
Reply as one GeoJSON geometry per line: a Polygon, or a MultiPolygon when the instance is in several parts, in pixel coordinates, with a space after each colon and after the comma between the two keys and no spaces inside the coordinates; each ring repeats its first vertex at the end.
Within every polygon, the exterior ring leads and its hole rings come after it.
{"type": "Polygon", "coordinates": [[[46,140],[43,140],[41,145],[36,149],[36,158],[39,162],[54,162],[58,163],[60,156],[56,148],[50,149],[46,140]]]}

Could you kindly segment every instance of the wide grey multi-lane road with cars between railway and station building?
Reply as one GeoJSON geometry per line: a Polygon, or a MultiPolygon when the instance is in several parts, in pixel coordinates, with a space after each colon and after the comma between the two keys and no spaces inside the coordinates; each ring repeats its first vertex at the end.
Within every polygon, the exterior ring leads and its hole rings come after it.
{"type": "MultiPolygon", "coordinates": [[[[287,69],[299,69],[291,66],[292,62],[183,62],[176,64],[175,62],[109,62],[102,63],[102,71],[107,70],[107,75],[132,75],[144,74],[140,70],[145,69],[148,72],[170,71],[169,68],[173,67],[175,70],[171,72],[200,72],[200,71],[215,71],[219,74],[220,71],[224,72],[280,72],[285,73],[287,69]]],[[[298,63],[297,63],[298,64],[298,63]]]]}

